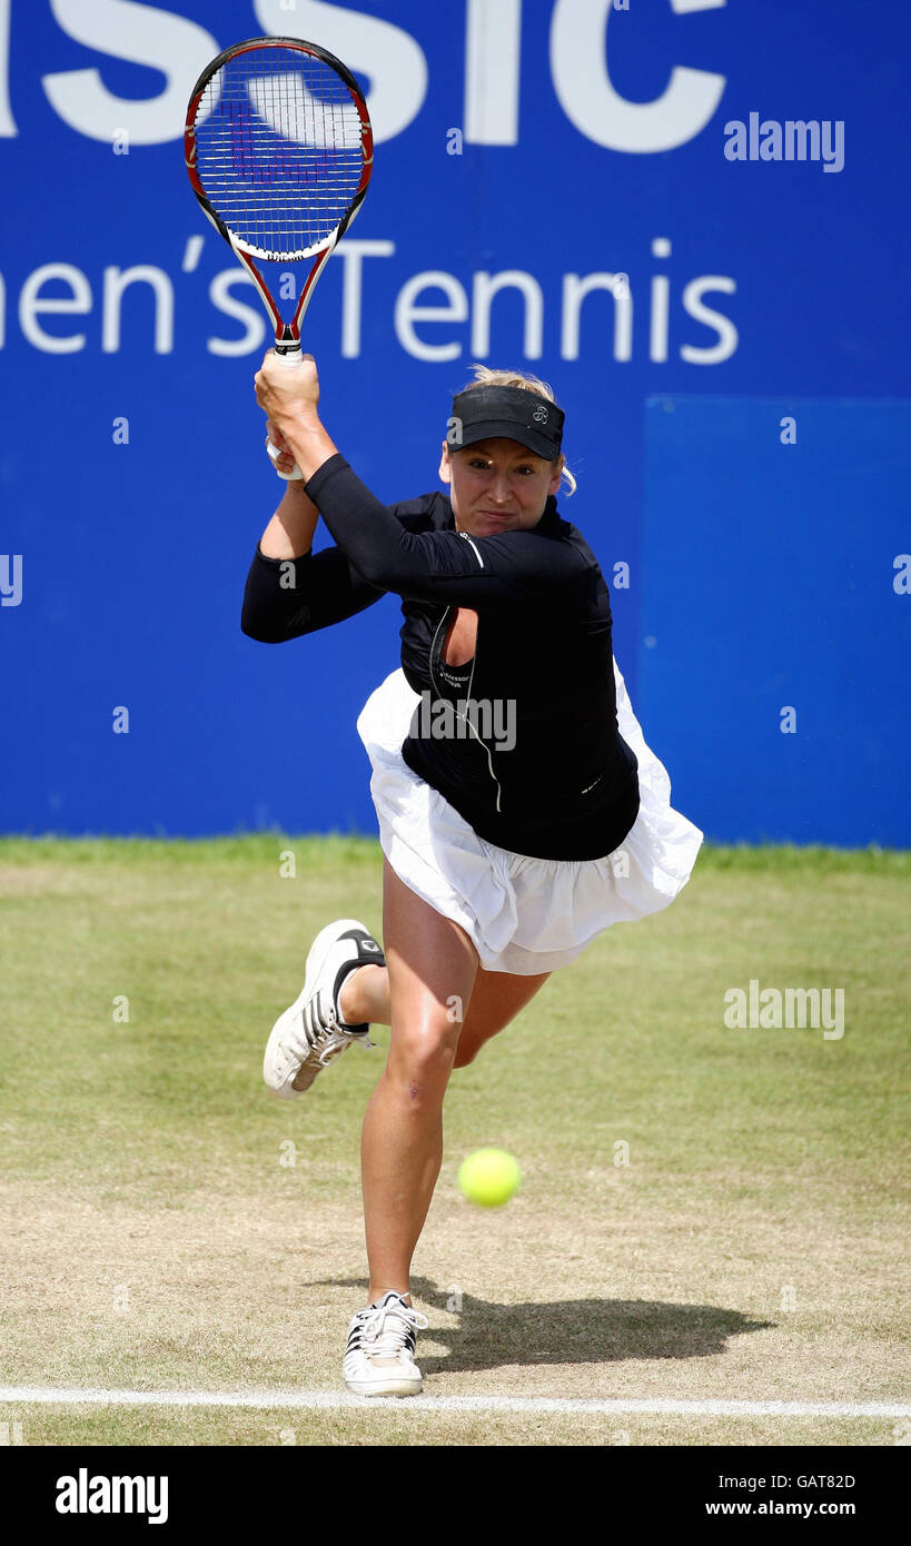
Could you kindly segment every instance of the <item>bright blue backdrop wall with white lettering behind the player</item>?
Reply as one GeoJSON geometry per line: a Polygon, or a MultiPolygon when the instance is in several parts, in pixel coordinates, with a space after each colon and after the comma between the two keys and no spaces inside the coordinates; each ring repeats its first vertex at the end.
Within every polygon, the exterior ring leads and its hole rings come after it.
{"type": "Polygon", "coordinates": [[[473,360],[549,379],[679,809],[908,844],[905,0],[0,0],[0,827],[376,830],[354,720],[397,600],[238,626],[268,339],[181,130],[257,32],[368,88],[306,320],[362,478],[436,487],[473,360]]]}

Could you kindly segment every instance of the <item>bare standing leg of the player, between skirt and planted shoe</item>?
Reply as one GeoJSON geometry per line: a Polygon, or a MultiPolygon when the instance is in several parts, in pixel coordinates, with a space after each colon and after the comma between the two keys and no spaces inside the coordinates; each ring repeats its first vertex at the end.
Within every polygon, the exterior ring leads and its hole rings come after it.
{"type": "Polygon", "coordinates": [[[466,931],[408,890],[388,861],[384,949],[390,1053],[367,1107],[360,1149],[371,1302],[388,1289],[408,1292],[442,1163],[442,1098],[478,971],[466,931]]]}

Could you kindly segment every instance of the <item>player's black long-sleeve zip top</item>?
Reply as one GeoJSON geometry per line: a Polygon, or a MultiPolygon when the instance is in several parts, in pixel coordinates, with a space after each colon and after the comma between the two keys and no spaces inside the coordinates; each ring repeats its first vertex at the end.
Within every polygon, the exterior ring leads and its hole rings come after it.
{"type": "Polygon", "coordinates": [[[435,739],[432,713],[416,711],[404,761],[478,836],[512,853],[594,860],[620,847],[639,813],[639,779],[617,730],[609,594],[557,501],[548,499],[531,530],[469,536],[441,493],[387,507],[342,456],[319,468],[306,493],[337,546],[292,561],[257,547],[243,632],[266,643],[299,638],[393,591],[402,598],[402,671],[430,707],[453,696],[439,673],[445,625],[459,606],[475,609],[470,699],[479,708],[500,700],[500,722],[479,711],[479,739],[435,739]],[[294,587],[283,581],[288,563],[294,587]]]}

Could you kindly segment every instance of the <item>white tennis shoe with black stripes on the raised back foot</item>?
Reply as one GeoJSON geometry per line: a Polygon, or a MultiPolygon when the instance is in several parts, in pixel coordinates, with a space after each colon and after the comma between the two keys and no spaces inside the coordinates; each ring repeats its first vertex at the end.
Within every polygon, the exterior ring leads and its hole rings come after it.
{"type": "Polygon", "coordinates": [[[278,1016],[266,1044],[263,1079],[272,1095],[292,1101],[317,1073],[354,1042],[376,1047],[370,1025],[345,1025],[339,994],[359,966],[385,966],[382,946],[357,918],[337,918],[320,929],[306,957],[299,997],[278,1016]]]}

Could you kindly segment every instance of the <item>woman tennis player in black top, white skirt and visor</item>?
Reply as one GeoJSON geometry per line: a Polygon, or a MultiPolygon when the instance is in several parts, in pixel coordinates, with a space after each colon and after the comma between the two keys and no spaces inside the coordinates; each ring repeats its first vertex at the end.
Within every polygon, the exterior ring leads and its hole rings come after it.
{"type": "MultiPolygon", "coordinates": [[[[370,1303],[345,1384],[415,1394],[410,1266],[442,1160],[442,1101],[540,991],[620,920],[667,908],[702,833],[670,805],[611,648],[608,586],[557,512],[563,411],[534,377],[475,366],[453,402],[447,490],[387,507],[319,417],[311,356],[255,377],[288,484],[254,557],[241,628],[278,643],[402,598],[402,666],[357,720],[384,860],[384,942],[329,923],[277,1020],[280,1098],[390,1025],[362,1133],[370,1303]],[[319,512],[319,513],[317,513],[319,512]],[[311,552],[322,515],[334,544],[311,552]]],[[[331,742],[331,731],[328,734],[331,742]]],[[[326,737],[320,737],[325,750],[326,737]]]]}

